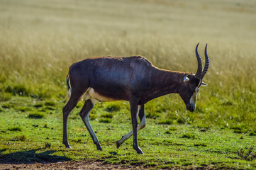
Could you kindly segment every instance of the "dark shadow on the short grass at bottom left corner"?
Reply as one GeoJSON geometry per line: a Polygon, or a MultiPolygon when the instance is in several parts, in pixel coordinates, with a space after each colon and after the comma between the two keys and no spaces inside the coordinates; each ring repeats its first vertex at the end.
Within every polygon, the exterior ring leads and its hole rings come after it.
{"type": "MultiPolygon", "coordinates": [[[[68,157],[51,155],[55,151],[45,151],[36,153],[39,149],[31,149],[23,152],[14,152],[11,154],[1,154],[0,155],[0,164],[33,164],[35,162],[47,164],[54,162],[66,162],[71,161],[68,157]]],[[[4,152],[5,150],[0,150],[4,152]]]]}

